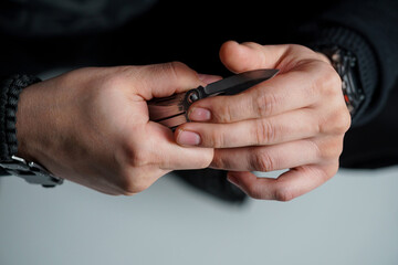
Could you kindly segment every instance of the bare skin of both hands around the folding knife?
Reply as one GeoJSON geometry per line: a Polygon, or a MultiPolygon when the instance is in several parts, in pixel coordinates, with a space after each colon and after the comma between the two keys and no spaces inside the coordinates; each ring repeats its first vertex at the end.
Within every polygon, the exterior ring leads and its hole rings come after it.
{"type": "Polygon", "coordinates": [[[239,95],[206,98],[175,134],[149,121],[146,102],[206,85],[178,62],[81,68],[25,88],[18,156],[107,194],[132,195],[177,169],[212,167],[255,199],[289,201],[331,179],[350,125],[328,60],[300,45],[227,42],[232,72],[280,68],[239,95]],[[290,169],[277,179],[250,171],[290,169]]]}

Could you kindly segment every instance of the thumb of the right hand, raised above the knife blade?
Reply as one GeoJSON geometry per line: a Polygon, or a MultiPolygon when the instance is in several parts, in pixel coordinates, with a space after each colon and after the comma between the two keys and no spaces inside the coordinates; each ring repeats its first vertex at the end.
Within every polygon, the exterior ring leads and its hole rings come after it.
{"type": "Polygon", "coordinates": [[[233,73],[256,68],[279,68],[286,51],[287,45],[260,45],[254,42],[239,44],[228,41],[221,45],[220,60],[233,73]]]}

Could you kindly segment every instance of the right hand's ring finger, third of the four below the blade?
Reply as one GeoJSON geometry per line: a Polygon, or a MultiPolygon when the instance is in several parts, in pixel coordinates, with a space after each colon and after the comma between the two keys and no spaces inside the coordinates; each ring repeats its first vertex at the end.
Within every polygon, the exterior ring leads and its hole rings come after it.
{"type": "Polygon", "coordinates": [[[335,157],[332,153],[321,156],[317,145],[306,139],[263,147],[216,149],[210,167],[233,171],[268,172],[318,163],[321,159],[333,160],[335,157]]]}

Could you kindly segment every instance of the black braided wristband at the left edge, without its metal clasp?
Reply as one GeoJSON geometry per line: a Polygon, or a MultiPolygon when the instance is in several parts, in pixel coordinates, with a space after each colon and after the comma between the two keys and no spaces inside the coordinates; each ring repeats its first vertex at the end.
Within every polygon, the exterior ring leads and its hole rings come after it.
{"type": "Polygon", "coordinates": [[[12,75],[1,81],[0,94],[0,160],[8,161],[18,152],[17,110],[23,88],[40,82],[32,75],[12,75]]]}

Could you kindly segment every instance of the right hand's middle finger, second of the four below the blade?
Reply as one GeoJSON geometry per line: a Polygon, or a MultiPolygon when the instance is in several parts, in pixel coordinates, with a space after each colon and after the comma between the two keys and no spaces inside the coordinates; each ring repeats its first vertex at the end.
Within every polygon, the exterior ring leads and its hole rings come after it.
{"type": "Polygon", "coordinates": [[[234,148],[244,146],[275,145],[305,139],[320,134],[316,114],[310,108],[260,119],[247,119],[232,124],[187,123],[175,131],[177,144],[201,147],[234,148]],[[192,141],[187,135],[197,134],[192,141]]]}

